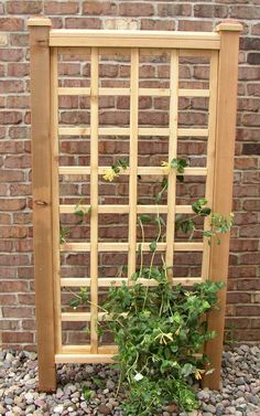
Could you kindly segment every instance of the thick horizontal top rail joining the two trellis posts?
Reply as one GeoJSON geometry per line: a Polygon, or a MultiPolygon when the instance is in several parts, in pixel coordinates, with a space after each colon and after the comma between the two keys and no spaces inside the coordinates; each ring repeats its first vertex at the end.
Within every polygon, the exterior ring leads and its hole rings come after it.
{"type": "Polygon", "coordinates": [[[170,32],[133,30],[51,30],[50,46],[181,47],[218,50],[215,32],[170,32]]]}

